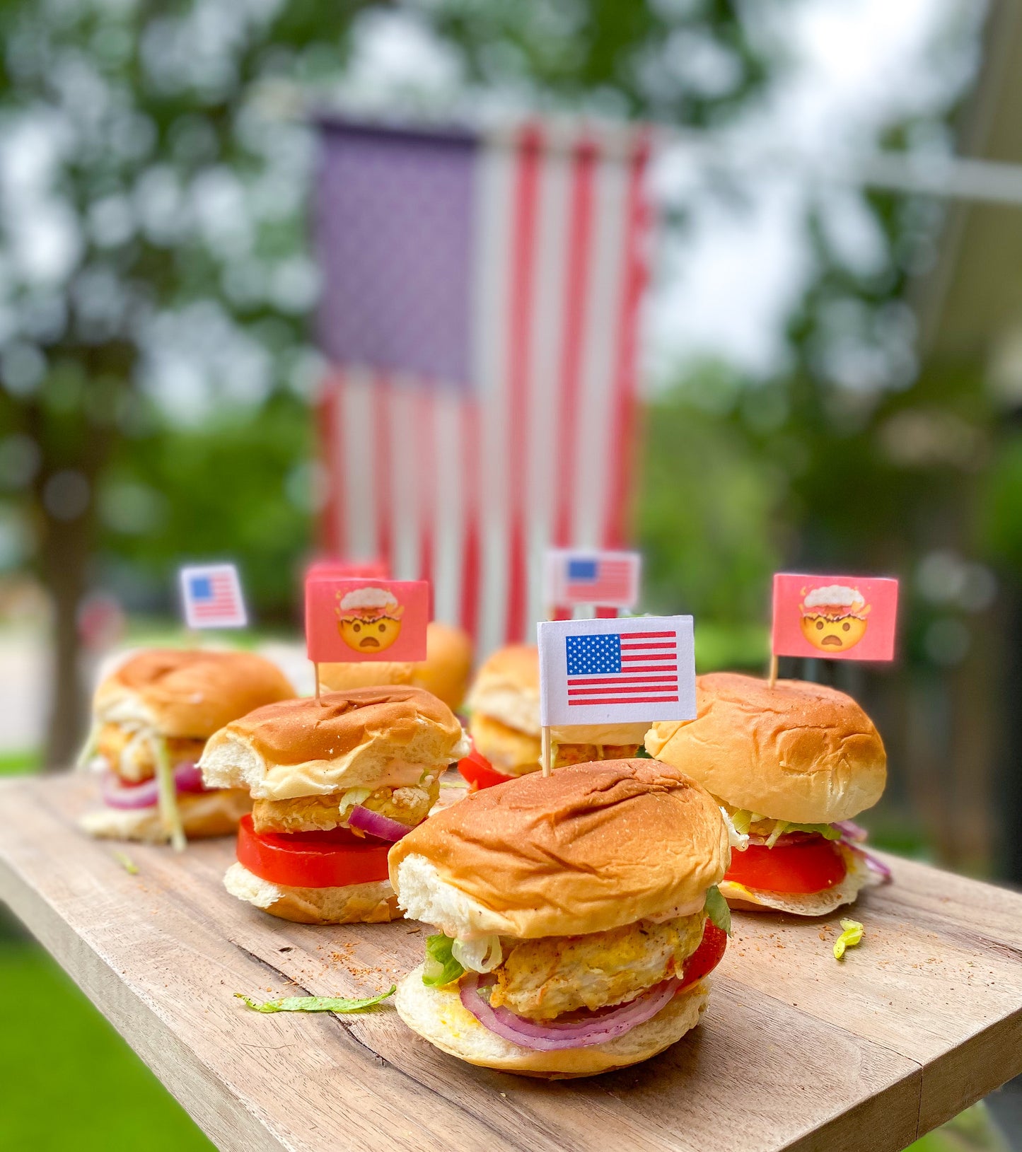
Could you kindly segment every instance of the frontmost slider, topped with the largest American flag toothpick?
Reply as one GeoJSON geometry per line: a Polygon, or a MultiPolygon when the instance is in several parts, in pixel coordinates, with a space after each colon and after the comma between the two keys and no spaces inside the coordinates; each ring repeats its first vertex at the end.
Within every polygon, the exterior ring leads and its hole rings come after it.
{"type": "Polygon", "coordinates": [[[646,1060],[706,1007],[728,851],[712,797],[654,760],[475,793],[391,849],[399,905],[439,930],[398,1011],[444,1052],[502,1071],[646,1060]]]}

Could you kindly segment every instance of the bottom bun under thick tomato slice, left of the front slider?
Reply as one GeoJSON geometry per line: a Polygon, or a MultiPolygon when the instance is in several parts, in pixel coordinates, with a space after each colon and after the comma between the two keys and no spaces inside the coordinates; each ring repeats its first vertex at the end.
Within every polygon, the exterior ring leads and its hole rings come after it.
{"type": "Polygon", "coordinates": [[[297,924],[383,924],[401,919],[389,880],[342,888],[287,888],[260,879],[243,864],[232,864],[224,874],[224,887],[232,896],[297,924]]]}

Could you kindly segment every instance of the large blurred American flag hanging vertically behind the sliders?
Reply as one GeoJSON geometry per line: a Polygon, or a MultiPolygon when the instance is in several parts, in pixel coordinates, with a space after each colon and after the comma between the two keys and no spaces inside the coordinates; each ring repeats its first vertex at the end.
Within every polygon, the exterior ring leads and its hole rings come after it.
{"type": "Polygon", "coordinates": [[[431,579],[480,652],[522,641],[547,547],[626,541],[649,132],[320,139],[324,545],[431,579]]]}

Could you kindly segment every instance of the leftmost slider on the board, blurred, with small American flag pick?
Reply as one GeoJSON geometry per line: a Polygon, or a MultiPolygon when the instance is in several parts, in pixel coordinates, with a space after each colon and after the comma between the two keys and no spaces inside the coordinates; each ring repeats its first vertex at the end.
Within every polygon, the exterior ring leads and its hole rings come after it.
{"type": "Polygon", "coordinates": [[[251,652],[154,649],[107,676],[92,702],[82,760],[103,773],[93,836],[172,840],[234,832],[248,791],[207,788],[196,767],[206,740],[236,717],[295,695],[283,673],[251,652]]]}

